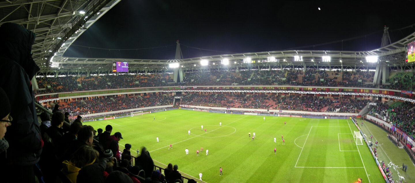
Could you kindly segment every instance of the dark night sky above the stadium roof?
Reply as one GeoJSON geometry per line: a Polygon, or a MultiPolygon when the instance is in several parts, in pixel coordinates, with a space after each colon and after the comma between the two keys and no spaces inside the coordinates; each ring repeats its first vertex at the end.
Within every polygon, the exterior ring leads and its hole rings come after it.
{"type": "Polygon", "coordinates": [[[303,50],[363,51],[380,47],[383,26],[392,42],[415,31],[415,0],[121,0],[64,56],[173,59],[275,51],[364,36],[303,50]],[[318,10],[320,7],[321,10],[318,10]],[[373,34],[371,34],[373,33],[373,34]],[[144,50],[136,49],[164,46],[144,50]],[[210,49],[206,51],[190,47],[210,49]]]}

